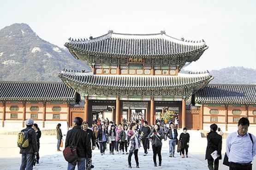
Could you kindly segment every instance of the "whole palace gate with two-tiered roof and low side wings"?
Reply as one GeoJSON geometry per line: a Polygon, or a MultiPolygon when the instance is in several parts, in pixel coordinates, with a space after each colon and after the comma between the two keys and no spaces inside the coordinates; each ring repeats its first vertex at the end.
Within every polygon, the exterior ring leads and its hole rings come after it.
{"type": "Polygon", "coordinates": [[[63,83],[0,82],[2,128],[24,126],[33,118],[43,128],[58,122],[72,126],[74,117],[92,124],[96,118],[116,123],[141,117],[154,124],[173,111],[180,128],[208,130],[216,123],[236,130],[248,117],[256,130],[256,85],[211,85],[208,71],[181,73],[208,49],[204,40],[176,39],[159,34],[109,31],[89,40],[69,39],[72,56],[91,71],[63,69],[63,83]]]}

